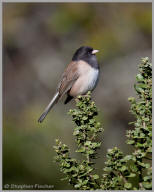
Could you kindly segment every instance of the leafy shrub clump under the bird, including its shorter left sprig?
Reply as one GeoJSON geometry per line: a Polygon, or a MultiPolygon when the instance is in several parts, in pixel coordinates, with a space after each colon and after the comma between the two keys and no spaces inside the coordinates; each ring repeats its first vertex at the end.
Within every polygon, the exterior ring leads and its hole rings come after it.
{"type": "Polygon", "coordinates": [[[59,162],[60,170],[63,172],[69,183],[75,189],[92,190],[99,188],[99,176],[94,173],[94,162],[96,150],[101,143],[98,142],[98,133],[102,132],[100,123],[97,122],[98,114],[96,105],[91,101],[91,94],[79,96],[76,100],[77,109],[69,111],[76,127],[73,135],[77,143],[77,153],[83,155],[83,160],[78,161],[70,157],[69,148],[56,140],[55,151],[56,161],[59,162]]]}

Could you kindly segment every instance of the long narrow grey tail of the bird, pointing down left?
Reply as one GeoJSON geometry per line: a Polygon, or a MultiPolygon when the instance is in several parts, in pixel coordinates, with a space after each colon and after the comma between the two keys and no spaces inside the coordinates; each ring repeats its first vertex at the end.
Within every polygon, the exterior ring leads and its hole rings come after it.
{"type": "Polygon", "coordinates": [[[49,113],[49,111],[51,110],[51,108],[54,106],[54,104],[57,103],[58,99],[59,99],[59,92],[57,92],[54,97],[52,98],[52,100],[50,101],[49,105],[45,108],[43,114],[40,116],[40,118],[38,119],[39,123],[42,123],[42,121],[44,120],[44,118],[47,116],[47,114],[49,113]]]}

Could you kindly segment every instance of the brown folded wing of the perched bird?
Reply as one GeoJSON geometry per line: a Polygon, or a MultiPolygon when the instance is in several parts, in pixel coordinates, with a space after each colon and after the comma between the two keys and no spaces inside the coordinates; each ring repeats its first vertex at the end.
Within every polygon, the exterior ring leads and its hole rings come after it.
{"type": "Polygon", "coordinates": [[[72,61],[65,69],[61,81],[58,85],[58,92],[60,97],[62,97],[67,91],[71,89],[78,77],[79,73],[77,68],[77,62],[72,61]]]}

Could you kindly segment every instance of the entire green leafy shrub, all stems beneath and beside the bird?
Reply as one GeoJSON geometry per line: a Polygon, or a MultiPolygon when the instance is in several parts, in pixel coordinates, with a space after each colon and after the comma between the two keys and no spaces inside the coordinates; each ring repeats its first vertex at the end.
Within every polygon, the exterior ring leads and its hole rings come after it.
{"type": "MultiPolygon", "coordinates": [[[[80,190],[151,190],[152,189],[152,64],[149,59],[143,58],[136,76],[135,90],[138,101],[130,97],[131,113],[136,120],[135,128],[127,131],[127,144],[132,145],[133,152],[124,155],[120,149],[108,149],[105,168],[101,181],[100,176],[94,173],[96,151],[103,142],[96,140],[102,132],[96,117],[98,112],[95,103],[91,101],[90,93],[79,96],[76,101],[77,109],[70,110],[76,136],[77,150],[85,158],[77,161],[70,157],[67,145],[56,140],[54,146],[57,153],[56,161],[60,170],[67,177],[65,179],[80,190]],[[133,180],[132,180],[133,179],[133,180]]],[[[96,165],[97,166],[97,165],[96,165]]]]}

